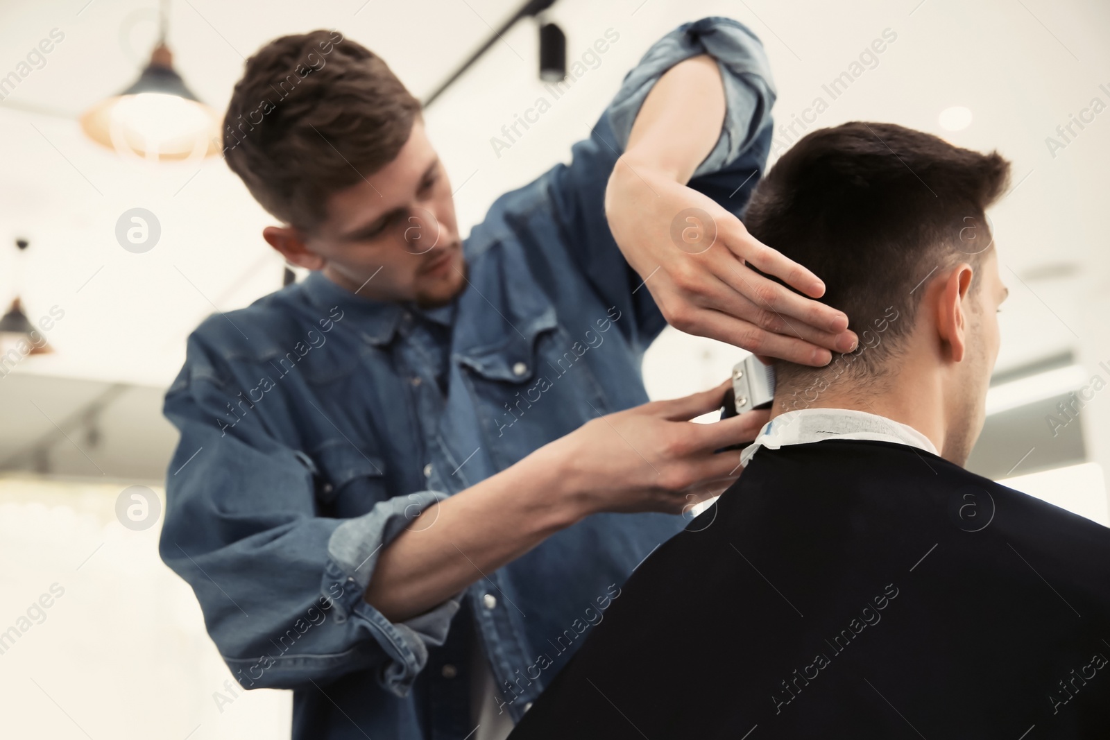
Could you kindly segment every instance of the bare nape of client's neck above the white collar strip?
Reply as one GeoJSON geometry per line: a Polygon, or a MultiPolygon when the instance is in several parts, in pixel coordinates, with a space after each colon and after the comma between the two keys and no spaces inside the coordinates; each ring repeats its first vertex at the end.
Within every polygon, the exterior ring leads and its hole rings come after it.
{"type": "Polygon", "coordinates": [[[770,418],[803,408],[866,412],[914,427],[944,456],[947,415],[941,378],[937,373],[915,372],[911,363],[907,365],[879,382],[841,375],[835,379],[818,377],[816,383],[780,384],[770,418]]]}

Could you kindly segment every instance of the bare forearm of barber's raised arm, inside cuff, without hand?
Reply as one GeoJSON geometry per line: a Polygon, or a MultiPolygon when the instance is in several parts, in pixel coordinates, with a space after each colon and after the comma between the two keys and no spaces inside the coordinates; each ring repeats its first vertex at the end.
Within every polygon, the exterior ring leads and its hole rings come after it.
{"type": "Polygon", "coordinates": [[[667,70],[644,100],[612,184],[646,172],[686,184],[720,138],[725,87],[708,54],[667,70]],[[622,166],[622,163],[627,166],[622,166]]]}

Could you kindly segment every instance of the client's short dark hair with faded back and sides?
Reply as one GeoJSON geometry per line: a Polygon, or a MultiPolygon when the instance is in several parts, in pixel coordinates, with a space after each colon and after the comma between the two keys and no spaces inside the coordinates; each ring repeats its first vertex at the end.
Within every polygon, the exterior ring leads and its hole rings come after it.
{"type": "Polygon", "coordinates": [[[821,302],[848,315],[860,344],[827,368],[780,362],[779,384],[846,369],[881,374],[912,328],[924,293],[916,286],[937,268],[978,266],[991,244],[985,211],[1009,172],[997,152],[892,123],[820,129],[786,152],[756,187],[745,225],[825,281],[821,302]]]}

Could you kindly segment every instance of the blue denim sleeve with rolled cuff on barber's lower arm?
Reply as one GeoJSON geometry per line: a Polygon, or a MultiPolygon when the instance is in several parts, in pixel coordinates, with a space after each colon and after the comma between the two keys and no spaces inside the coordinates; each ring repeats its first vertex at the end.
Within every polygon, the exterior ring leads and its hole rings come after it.
{"type": "Polygon", "coordinates": [[[229,376],[191,337],[164,406],[181,439],[167,476],[163,561],[193,588],[243,687],[293,689],[372,670],[407,695],[462,595],[393,622],[363,594],[383,547],[445,494],[396,496],[355,518],[319,516],[307,455],[256,417],[221,427],[229,388],[238,391],[229,376]]]}

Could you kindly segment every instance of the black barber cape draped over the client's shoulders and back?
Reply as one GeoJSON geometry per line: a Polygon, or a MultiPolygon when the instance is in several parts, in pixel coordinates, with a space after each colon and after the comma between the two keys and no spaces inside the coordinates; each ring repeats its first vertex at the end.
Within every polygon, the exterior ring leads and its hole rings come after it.
{"type": "Polygon", "coordinates": [[[765,448],[511,740],[1104,739],[1108,658],[1110,529],[905,445],[765,448]]]}

